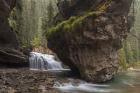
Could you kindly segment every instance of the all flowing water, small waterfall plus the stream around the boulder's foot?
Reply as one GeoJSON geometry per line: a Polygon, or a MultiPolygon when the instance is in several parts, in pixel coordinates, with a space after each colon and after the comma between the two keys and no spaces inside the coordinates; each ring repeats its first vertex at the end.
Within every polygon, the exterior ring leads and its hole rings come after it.
{"type": "MultiPolygon", "coordinates": [[[[64,72],[69,69],[64,68],[60,61],[53,55],[31,52],[30,70],[42,70],[64,72]]],[[[63,79],[59,77],[58,79],[63,79]]],[[[68,82],[55,82],[53,89],[60,93],[140,93],[140,70],[129,69],[118,73],[114,79],[102,84],[92,84],[82,80],[67,77],[68,82]]],[[[59,81],[59,80],[58,80],[59,81]]]]}

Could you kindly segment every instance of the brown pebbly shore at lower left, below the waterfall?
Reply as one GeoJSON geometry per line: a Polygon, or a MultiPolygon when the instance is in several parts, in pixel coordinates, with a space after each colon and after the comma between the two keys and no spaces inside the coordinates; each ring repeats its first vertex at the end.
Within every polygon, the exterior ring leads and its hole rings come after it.
{"type": "Polygon", "coordinates": [[[59,93],[53,89],[56,76],[28,68],[0,69],[0,93],[59,93]]]}

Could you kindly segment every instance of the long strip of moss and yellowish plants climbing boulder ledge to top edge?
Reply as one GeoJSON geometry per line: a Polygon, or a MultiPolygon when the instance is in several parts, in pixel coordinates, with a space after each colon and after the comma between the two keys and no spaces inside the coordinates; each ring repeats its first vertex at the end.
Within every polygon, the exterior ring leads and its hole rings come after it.
{"type": "Polygon", "coordinates": [[[112,0],[107,0],[97,6],[95,11],[91,11],[89,13],[85,13],[83,16],[72,16],[68,20],[62,21],[57,24],[55,27],[50,28],[46,32],[47,39],[51,38],[54,34],[62,33],[63,31],[76,31],[80,29],[87,18],[91,17],[95,19],[102,13],[106,12],[112,0]]]}

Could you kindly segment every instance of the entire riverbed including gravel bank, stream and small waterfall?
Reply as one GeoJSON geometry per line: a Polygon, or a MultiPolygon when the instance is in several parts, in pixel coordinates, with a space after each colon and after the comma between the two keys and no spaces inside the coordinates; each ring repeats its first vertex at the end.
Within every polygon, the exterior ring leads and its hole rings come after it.
{"type": "Polygon", "coordinates": [[[139,67],[96,84],[75,76],[54,55],[32,52],[29,67],[0,67],[0,93],[140,93],[139,67]]]}

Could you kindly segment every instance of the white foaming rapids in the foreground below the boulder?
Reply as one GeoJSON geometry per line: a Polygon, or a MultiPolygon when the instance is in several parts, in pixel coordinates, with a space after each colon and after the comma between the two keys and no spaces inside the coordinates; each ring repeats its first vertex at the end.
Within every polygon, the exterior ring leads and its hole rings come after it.
{"type": "Polygon", "coordinates": [[[59,82],[56,82],[53,88],[66,93],[116,93],[117,91],[115,89],[110,89],[110,85],[91,84],[86,82],[80,82],[78,84],[73,84],[72,82],[60,84],[59,82]]]}

